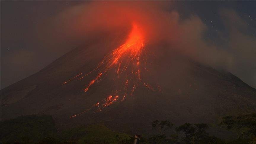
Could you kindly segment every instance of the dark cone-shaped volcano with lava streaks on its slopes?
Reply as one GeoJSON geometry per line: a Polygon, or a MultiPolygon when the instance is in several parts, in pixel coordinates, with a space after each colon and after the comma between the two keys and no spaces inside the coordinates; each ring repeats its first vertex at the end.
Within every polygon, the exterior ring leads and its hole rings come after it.
{"type": "Polygon", "coordinates": [[[136,45],[133,50],[149,50],[146,56],[131,52],[132,60],[115,55],[129,53],[118,50],[128,43],[94,39],[2,89],[1,121],[45,113],[60,129],[102,122],[133,133],[150,131],[154,120],[216,124],[225,115],[256,111],[256,90],[231,73],[166,46],[136,45]]]}

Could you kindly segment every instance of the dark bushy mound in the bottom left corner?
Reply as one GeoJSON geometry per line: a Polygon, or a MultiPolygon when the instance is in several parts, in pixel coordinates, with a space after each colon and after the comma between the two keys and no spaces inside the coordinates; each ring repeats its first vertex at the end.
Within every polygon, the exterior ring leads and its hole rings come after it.
{"type": "Polygon", "coordinates": [[[33,143],[56,132],[52,116],[27,115],[1,122],[1,143],[33,143]]]}

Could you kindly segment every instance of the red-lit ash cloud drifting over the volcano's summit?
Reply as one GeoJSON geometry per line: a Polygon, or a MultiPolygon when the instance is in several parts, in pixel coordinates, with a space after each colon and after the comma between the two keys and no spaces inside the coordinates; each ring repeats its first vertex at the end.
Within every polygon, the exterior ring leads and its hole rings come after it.
{"type": "Polygon", "coordinates": [[[220,9],[225,32],[220,30],[217,33],[223,41],[217,45],[204,40],[204,33],[209,28],[199,16],[191,14],[182,19],[179,12],[169,8],[173,4],[173,1],[75,4],[40,19],[32,38],[37,45],[33,46],[40,45],[40,52],[44,51],[44,55],[51,53],[56,59],[70,48],[90,41],[92,36],[96,38],[95,42],[104,39],[103,31],[119,35],[124,31],[123,35],[127,35],[131,24],[137,23],[143,30],[146,45],[159,45],[152,51],[161,51],[160,45],[166,44],[170,53],[180,52],[204,65],[223,68],[255,88],[255,36],[243,33],[246,22],[237,12],[220,9]]]}

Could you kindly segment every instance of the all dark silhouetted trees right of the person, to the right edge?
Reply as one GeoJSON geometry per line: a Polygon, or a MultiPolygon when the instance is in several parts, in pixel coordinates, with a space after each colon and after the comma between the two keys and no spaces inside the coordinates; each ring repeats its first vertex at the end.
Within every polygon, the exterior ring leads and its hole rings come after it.
{"type": "Polygon", "coordinates": [[[152,130],[156,132],[144,143],[189,143],[189,144],[256,144],[256,113],[242,116],[225,116],[220,123],[227,130],[233,131],[237,135],[236,140],[225,142],[216,136],[210,136],[206,130],[207,124],[186,123],[174,128],[174,124],[165,121],[153,121],[152,130]],[[171,133],[167,135],[166,133],[171,133]],[[173,132],[174,131],[174,132],[173,132]]]}

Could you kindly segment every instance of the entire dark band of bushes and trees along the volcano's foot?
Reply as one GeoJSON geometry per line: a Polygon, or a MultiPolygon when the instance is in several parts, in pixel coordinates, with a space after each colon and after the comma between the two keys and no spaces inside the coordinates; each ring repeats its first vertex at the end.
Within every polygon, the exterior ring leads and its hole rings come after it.
{"type": "MultiPolygon", "coordinates": [[[[256,114],[243,116],[225,116],[221,122],[227,130],[237,135],[236,140],[225,141],[210,136],[207,124],[186,123],[175,127],[165,121],[153,121],[152,133],[142,137],[142,144],[242,144],[256,143],[256,114]]],[[[90,143],[90,144],[128,144],[134,136],[115,132],[103,124],[91,124],[57,132],[52,116],[27,115],[1,122],[1,144],[4,143],[90,143]]]]}

